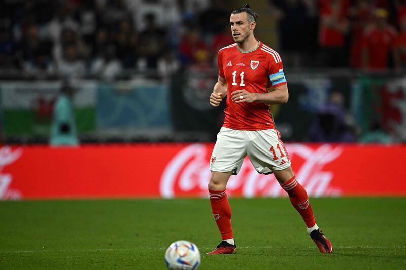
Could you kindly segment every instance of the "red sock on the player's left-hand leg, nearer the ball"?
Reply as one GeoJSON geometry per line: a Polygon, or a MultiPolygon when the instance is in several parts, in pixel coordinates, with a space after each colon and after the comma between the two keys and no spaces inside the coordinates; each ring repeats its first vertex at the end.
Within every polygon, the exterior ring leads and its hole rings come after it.
{"type": "Polygon", "coordinates": [[[231,227],[231,207],[228,203],[227,192],[224,190],[210,190],[210,204],[212,205],[213,217],[220,230],[222,239],[233,238],[231,227]]]}

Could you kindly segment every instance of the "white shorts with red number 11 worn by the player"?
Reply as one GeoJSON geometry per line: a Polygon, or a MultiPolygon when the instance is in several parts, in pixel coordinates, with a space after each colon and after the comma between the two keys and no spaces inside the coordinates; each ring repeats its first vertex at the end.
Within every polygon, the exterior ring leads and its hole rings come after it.
{"type": "Polygon", "coordinates": [[[210,159],[210,170],[237,174],[247,155],[258,173],[269,174],[290,166],[288,152],[277,129],[235,130],[222,127],[210,159]]]}

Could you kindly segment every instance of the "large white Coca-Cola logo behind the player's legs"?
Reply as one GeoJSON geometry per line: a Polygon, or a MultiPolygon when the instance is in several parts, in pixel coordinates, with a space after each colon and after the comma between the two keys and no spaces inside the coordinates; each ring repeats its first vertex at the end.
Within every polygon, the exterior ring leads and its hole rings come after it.
{"type": "MultiPolygon", "coordinates": [[[[309,196],[339,196],[341,190],[331,186],[332,171],[324,166],[337,159],[343,149],[341,146],[323,144],[312,148],[304,144],[288,144],[287,151],[294,160],[299,161],[296,168],[298,181],[306,188],[309,196]]],[[[179,196],[208,197],[207,184],[210,179],[208,156],[212,148],[205,144],[191,144],[182,149],[165,167],[160,179],[160,195],[164,198],[179,196]],[[210,149],[209,149],[210,148],[210,149]]],[[[236,176],[231,176],[227,184],[228,196],[243,197],[282,197],[287,196],[273,174],[259,174],[248,157],[236,176]]]]}

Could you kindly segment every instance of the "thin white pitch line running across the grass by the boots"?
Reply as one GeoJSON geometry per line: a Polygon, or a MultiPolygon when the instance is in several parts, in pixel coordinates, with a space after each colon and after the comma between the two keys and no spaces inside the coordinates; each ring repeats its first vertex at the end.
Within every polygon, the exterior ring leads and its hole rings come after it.
{"type": "MultiPolygon", "coordinates": [[[[211,249],[213,247],[200,247],[200,249],[211,249]]],[[[248,248],[263,248],[263,249],[279,249],[279,248],[300,248],[299,246],[263,246],[263,247],[238,247],[239,249],[248,249],[248,248]]],[[[302,248],[302,247],[301,247],[302,248]]],[[[314,249],[314,246],[307,247],[309,249],[314,249]]],[[[406,246],[395,246],[395,247],[382,247],[382,246],[334,246],[333,248],[342,248],[342,249],[373,249],[373,248],[381,248],[381,249],[406,249],[406,246]]],[[[134,248],[109,248],[109,249],[58,249],[58,250],[0,250],[0,253],[35,253],[35,252],[92,252],[92,251],[122,251],[122,250],[165,250],[165,247],[161,248],[150,248],[150,247],[134,247],[134,248]]]]}

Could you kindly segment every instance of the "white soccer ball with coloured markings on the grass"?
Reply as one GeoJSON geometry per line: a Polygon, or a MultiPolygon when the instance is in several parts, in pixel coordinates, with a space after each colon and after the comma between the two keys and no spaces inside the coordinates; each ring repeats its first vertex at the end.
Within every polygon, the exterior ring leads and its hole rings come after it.
{"type": "Polygon", "coordinates": [[[200,265],[200,252],[192,242],[179,240],[166,250],[165,262],[172,270],[197,269],[200,265]]]}

